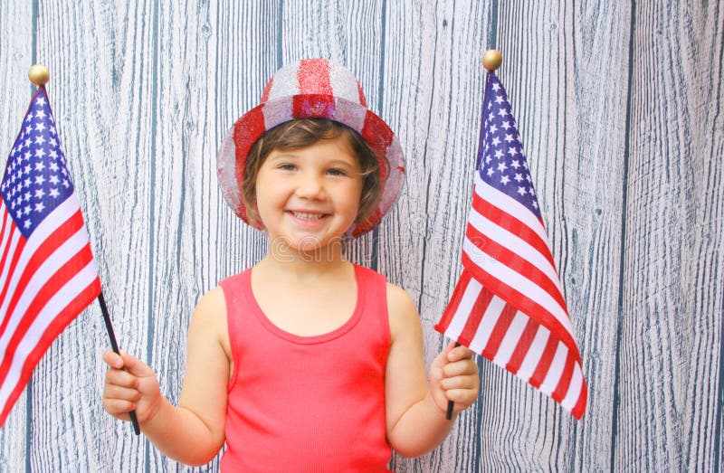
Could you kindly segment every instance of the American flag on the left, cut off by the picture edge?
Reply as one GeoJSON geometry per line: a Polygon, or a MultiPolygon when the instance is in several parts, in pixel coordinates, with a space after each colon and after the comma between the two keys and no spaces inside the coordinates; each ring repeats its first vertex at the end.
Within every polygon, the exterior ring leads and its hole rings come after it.
{"type": "Polygon", "coordinates": [[[0,426],[52,341],[100,294],[81,205],[43,87],[0,184],[0,426]]]}

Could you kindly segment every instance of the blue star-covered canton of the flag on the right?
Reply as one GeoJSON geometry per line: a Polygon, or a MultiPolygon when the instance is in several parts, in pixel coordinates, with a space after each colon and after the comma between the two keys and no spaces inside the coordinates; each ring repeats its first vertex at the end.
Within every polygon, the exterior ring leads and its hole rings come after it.
{"type": "Polygon", "coordinates": [[[484,134],[477,166],[481,179],[528,207],[540,219],[538,199],[520,144],[518,126],[510,111],[508,94],[495,74],[488,78],[485,96],[488,101],[483,112],[484,134]]]}

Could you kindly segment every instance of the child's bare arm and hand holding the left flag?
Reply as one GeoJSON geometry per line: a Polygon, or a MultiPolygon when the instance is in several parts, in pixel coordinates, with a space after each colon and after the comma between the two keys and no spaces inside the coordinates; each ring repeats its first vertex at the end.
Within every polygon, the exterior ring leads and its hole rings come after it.
{"type": "Polygon", "coordinates": [[[124,421],[129,420],[129,411],[136,410],[141,431],[157,449],[187,465],[204,465],[224,445],[230,372],[225,346],[224,292],[216,288],[199,301],[188,327],[186,377],[178,407],[160,393],[156,375],[147,364],[113,352],[103,355],[110,366],[103,407],[124,421]]]}

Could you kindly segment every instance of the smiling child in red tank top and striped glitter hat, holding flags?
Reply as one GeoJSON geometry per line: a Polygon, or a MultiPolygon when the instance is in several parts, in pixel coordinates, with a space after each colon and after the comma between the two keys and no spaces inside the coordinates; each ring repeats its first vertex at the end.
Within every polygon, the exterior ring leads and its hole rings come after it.
{"type": "Polygon", "coordinates": [[[174,407],[151,369],[107,352],[103,406],[135,410],[158,449],[202,465],[226,442],[228,471],[386,471],[391,449],[422,455],[478,396],[472,352],[448,345],[425,374],[414,303],[345,260],[344,238],[376,227],[405,162],[354,76],[325,60],[278,71],[219,155],[227,201],[269,251],[221,281],[188,328],[174,407]]]}

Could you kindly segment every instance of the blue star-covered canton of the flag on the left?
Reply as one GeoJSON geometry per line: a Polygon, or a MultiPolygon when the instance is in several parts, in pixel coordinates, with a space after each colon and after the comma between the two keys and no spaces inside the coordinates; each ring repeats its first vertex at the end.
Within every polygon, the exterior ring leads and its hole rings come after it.
{"type": "Polygon", "coordinates": [[[25,238],[73,193],[44,90],[30,104],[8,157],[0,194],[25,238]]]}

